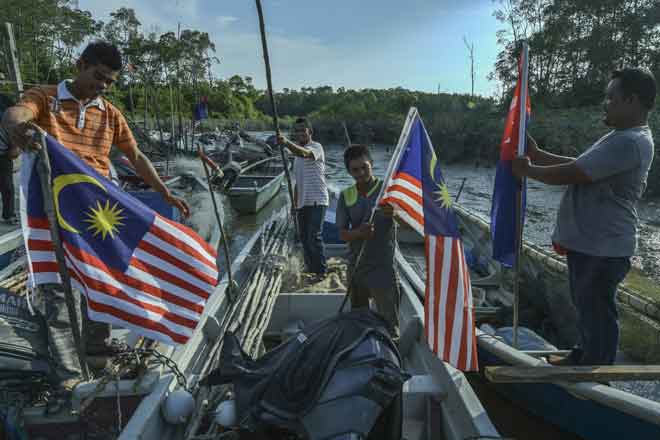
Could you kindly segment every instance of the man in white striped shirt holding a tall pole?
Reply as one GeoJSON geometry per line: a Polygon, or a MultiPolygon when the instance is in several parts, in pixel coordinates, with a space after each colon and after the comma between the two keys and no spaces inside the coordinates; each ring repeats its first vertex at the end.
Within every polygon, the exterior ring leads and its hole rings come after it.
{"type": "Polygon", "coordinates": [[[296,187],[294,201],[300,240],[303,244],[308,272],[325,275],[327,268],[321,230],[328,207],[323,146],[312,140],[312,127],[306,118],[298,118],[293,126],[294,143],[278,134],[278,144],[285,146],[296,159],[293,163],[296,187]]]}

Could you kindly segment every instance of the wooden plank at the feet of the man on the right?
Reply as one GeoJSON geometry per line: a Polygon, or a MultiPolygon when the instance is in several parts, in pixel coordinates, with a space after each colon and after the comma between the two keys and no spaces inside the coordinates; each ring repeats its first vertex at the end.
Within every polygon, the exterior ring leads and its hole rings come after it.
{"type": "Polygon", "coordinates": [[[486,377],[496,383],[659,380],[660,365],[486,367],[486,377]]]}

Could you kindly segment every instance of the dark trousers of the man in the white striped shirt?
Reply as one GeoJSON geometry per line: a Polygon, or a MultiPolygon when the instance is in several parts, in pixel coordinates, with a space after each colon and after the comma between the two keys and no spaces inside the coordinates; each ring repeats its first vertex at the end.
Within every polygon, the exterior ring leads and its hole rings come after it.
{"type": "Polygon", "coordinates": [[[296,211],[305,266],[308,272],[318,274],[324,274],[327,269],[321,236],[325,209],[325,206],[303,206],[296,211]]]}

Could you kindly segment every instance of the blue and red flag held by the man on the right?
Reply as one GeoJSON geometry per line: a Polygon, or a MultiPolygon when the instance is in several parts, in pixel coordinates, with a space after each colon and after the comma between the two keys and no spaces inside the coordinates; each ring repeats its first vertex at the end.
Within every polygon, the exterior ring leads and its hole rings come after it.
{"type": "Polygon", "coordinates": [[[495,187],[490,210],[490,231],[493,240],[493,258],[504,266],[515,264],[518,237],[516,232],[516,192],[522,192],[522,206],[518,213],[520,224],[525,220],[526,183],[519,181],[511,171],[511,161],[517,153],[527,149],[527,123],[531,114],[531,101],[527,90],[527,45],[523,45],[518,65],[518,82],[513,93],[509,115],[500,144],[500,159],[495,171],[495,187]],[[525,103],[523,104],[523,100],[525,103]],[[523,110],[524,108],[524,110],[523,110]],[[522,115],[522,117],[521,117],[522,115]],[[522,121],[521,121],[522,120],[522,121]]]}

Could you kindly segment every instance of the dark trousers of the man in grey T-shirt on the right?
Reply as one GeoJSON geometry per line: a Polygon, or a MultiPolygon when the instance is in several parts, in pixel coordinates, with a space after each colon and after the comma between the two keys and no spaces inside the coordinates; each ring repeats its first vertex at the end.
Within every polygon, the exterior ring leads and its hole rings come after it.
{"type": "Polygon", "coordinates": [[[578,365],[611,365],[619,345],[616,289],[630,270],[630,258],[569,251],[567,263],[580,336],[571,357],[578,365]]]}

